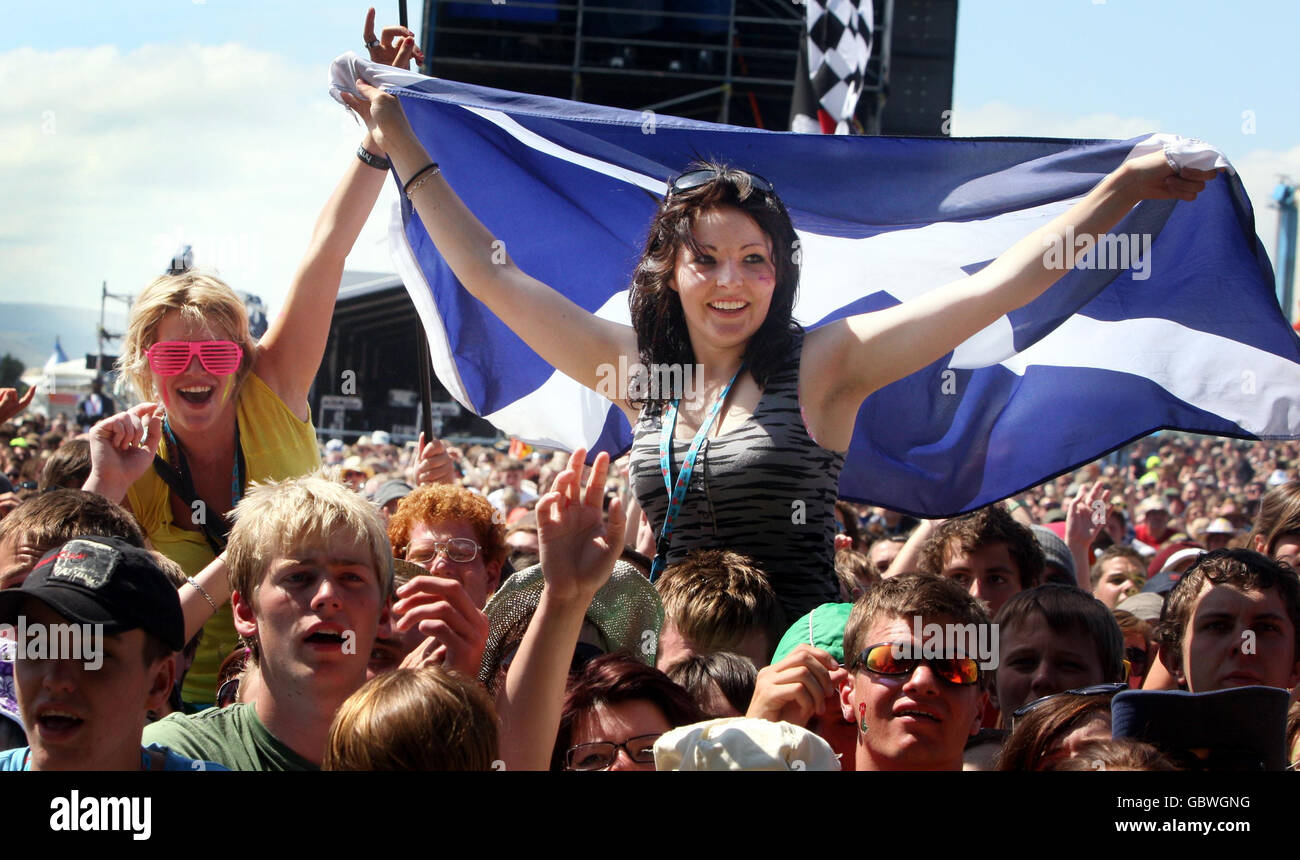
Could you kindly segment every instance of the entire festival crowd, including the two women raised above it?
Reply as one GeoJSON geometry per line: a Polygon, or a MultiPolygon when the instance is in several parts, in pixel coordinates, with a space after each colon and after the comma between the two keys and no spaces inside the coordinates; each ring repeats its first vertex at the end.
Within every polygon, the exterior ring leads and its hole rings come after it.
{"type": "MultiPolygon", "coordinates": [[[[373,10],[364,39],[374,62],[420,56],[373,10]]],[[[127,323],[134,405],[95,399],[74,427],[0,392],[0,769],[1300,757],[1300,444],[1160,434],[946,520],[837,498],[863,400],[1056,283],[1046,240],[1213,173],[1131,160],[978,274],[805,331],[776,191],[696,165],[621,326],[498,259],[391,94],[343,99],[367,131],[265,336],[214,275],[169,274],[127,323]],[[699,390],[616,392],[634,442],[614,462],[321,440],[309,388],[389,170],[558,369],[692,365],[699,390]]]]}

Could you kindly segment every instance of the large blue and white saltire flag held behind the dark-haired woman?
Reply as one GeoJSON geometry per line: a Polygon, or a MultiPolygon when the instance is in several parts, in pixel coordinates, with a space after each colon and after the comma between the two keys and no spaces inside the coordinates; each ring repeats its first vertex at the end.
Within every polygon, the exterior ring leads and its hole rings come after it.
{"type": "MultiPolygon", "coordinates": [[[[772,133],[341,57],[335,86],[356,77],[393,88],[448,182],[523,270],[624,323],[646,229],[666,183],[693,158],[720,157],[775,184],[801,240],[796,317],[815,329],[979,270],[1126,158],[1173,140],[772,133]]],[[[554,370],[472,297],[404,199],[396,214],[398,274],[456,400],[532,444],[627,451],[623,413],[554,370]]],[[[1300,435],[1300,338],[1278,308],[1239,178],[1225,173],[1191,204],[1145,201],[1105,239],[1087,253],[1078,253],[1082,243],[1045,248],[1082,265],[872,394],[858,413],[841,494],[952,516],[1162,427],[1300,435]]]]}

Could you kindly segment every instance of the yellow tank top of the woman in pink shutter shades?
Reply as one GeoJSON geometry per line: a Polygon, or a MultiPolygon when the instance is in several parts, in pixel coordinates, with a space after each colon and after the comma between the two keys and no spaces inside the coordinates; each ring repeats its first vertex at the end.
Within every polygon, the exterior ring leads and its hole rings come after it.
{"type": "MultiPolygon", "coordinates": [[[[299,421],[289,407],[256,374],[248,374],[239,388],[237,418],[239,446],[244,452],[248,482],[282,481],[320,468],[316,430],[308,414],[299,421]]],[[[159,448],[166,459],[166,439],[159,448]]],[[[178,527],[172,520],[170,492],[157,472],[150,469],[131,485],[126,499],[153,548],[172,559],[187,575],[195,575],[212,563],[213,553],[202,531],[178,527]]],[[[194,704],[212,704],[217,698],[217,670],[221,661],[239,644],[230,603],[203,625],[203,642],[185,677],[182,695],[194,704]]]]}

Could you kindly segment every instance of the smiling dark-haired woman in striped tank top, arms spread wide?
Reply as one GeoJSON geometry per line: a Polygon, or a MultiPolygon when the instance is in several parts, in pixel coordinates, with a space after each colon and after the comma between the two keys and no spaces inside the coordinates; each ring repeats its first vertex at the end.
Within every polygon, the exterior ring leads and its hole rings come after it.
{"type": "MultiPolygon", "coordinates": [[[[742,551],[792,618],[836,599],[832,511],[867,395],[1050,287],[1063,274],[1044,259],[1053,240],[1105,233],[1144,199],[1192,200],[1214,175],[1175,175],[1164,153],[1135,158],[979,273],[805,334],[792,317],[801,251],[784,204],[762,177],[706,164],[677,177],[654,216],[625,326],[502,259],[398,99],[356,86],[363,97],[343,99],[391,155],[460,283],[558,370],[624,411],[655,572],[693,548],[742,551]],[[610,391],[610,369],[628,366],[645,373],[610,391]]],[[[556,236],[556,253],[563,248],[556,236]]]]}

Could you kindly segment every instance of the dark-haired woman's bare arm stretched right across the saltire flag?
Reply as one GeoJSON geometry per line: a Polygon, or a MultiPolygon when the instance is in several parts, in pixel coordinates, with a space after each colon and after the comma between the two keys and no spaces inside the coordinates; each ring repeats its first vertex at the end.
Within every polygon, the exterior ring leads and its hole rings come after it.
{"type": "Polygon", "coordinates": [[[1017,242],[980,272],[910,301],[818,329],[809,336],[803,403],[818,438],[848,448],[862,401],[956,348],[998,317],[1020,308],[1056,283],[1065,269],[1044,253],[1056,238],[1105,234],[1141,200],[1195,200],[1214,170],[1184,168],[1175,174],[1164,152],[1121,165],[1060,217],[1017,242]],[[1067,233],[1070,231],[1070,233],[1067,233]]]}

